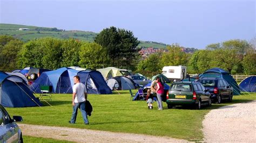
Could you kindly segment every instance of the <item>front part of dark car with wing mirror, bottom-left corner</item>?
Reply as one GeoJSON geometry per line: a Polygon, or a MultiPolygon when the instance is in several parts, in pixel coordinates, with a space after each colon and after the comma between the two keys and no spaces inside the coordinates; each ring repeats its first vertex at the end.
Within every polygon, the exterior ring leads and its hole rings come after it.
{"type": "Polygon", "coordinates": [[[15,121],[22,121],[21,116],[11,119],[8,112],[0,104],[0,142],[23,142],[22,131],[15,121]]]}

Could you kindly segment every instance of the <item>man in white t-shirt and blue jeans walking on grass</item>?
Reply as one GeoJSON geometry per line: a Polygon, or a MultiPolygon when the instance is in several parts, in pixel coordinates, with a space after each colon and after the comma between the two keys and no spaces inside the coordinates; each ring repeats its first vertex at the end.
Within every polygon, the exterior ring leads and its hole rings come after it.
{"type": "Polygon", "coordinates": [[[73,98],[72,98],[72,105],[73,105],[73,113],[72,118],[69,121],[70,124],[76,123],[77,118],[77,110],[78,108],[82,112],[82,116],[84,119],[84,124],[88,125],[89,121],[87,119],[87,114],[85,111],[85,101],[87,99],[87,90],[83,83],[80,83],[80,77],[74,76],[73,81],[75,85],[73,86],[73,98]]]}

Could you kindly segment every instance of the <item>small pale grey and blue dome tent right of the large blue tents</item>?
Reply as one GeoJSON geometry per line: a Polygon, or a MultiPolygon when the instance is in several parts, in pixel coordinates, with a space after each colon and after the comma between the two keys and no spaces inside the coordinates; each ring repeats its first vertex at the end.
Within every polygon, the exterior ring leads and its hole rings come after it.
{"type": "Polygon", "coordinates": [[[107,80],[107,85],[110,89],[117,88],[117,90],[135,89],[135,83],[131,78],[124,76],[116,76],[107,80]]]}

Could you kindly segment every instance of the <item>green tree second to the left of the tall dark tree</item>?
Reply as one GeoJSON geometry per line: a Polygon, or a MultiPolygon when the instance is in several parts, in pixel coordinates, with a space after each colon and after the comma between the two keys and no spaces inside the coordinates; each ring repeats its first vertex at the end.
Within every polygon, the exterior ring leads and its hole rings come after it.
{"type": "Polygon", "coordinates": [[[82,43],[75,39],[64,40],[62,48],[62,62],[61,67],[78,66],[79,51],[82,43]]]}

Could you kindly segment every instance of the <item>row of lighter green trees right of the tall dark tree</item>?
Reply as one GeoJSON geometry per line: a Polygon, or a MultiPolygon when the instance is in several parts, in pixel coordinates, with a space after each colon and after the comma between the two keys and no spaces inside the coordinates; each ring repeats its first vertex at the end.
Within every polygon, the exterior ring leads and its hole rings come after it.
{"type": "Polygon", "coordinates": [[[223,68],[231,74],[256,75],[256,47],[254,38],[228,40],[207,45],[194,53],[181,52],[178,44],[167,46],[169,52],[151,54],[138,63],[137,71],[152,76],[161,73],[164,66],[187,66],[187,73],[199,74],[210,68],[223,68]]]}

